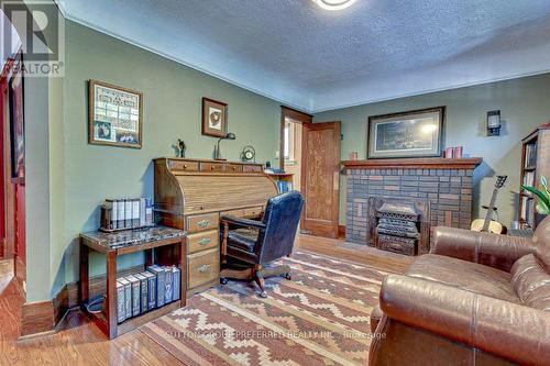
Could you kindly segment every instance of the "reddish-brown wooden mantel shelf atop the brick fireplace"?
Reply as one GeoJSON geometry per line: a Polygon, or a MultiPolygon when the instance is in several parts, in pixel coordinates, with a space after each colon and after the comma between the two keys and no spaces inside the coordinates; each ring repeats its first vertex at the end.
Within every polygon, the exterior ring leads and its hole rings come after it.
{"type": "Polygon", "coordinates": [[[342,165],[346,169],[475,169],[482,164],[481,157],[468,158],[400,158],[400,159],[369,159],[369,160],[343,160],[342,165]]]}

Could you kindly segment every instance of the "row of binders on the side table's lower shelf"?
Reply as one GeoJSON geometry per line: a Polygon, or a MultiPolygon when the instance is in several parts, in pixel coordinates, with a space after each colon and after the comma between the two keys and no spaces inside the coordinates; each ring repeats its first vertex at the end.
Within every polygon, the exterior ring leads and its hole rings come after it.
{"type": "Polygon", "coordinates": [[[117,320],[119,323],[150,310],[179,300],[180,269],[176,266],[147,267],[147,270],[117,280],[117,320]]]}

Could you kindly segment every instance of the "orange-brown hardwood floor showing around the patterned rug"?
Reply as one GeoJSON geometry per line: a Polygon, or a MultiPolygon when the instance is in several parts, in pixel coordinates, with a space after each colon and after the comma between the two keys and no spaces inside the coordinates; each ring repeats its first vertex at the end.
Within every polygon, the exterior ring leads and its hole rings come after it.
{"type": "MultiPolygon", "coordinates": [[[[381,253],[342,240],[300,235],[297,249],[315,252],[400,273],[409,257],[381,253]]],[[[72,310],[53,335],[19,340],[23,293],[9,264],[0,262],[0,365],[182,365],[182,363],[135,330],[113,341],[79,310],[72,310]]]]}

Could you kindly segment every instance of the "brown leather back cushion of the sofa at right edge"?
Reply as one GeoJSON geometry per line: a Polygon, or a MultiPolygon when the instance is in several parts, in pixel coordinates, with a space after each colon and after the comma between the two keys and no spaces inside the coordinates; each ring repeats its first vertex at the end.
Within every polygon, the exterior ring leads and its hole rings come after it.
{"type": "Polygon", "coordinates": [[[522,303],[550,311],[550,275],[532,254],[524,256],[514,264],[512,282],[522,303]]]}

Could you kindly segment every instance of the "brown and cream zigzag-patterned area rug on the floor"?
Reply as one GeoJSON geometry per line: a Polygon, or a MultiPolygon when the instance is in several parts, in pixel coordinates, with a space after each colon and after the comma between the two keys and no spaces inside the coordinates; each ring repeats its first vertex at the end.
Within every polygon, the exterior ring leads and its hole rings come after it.
{"type": "Polygon", "coordinates": [[[229,281],[141,331],[185,365],[366,365],[370,314],[387,273],[298,252],[293,280],[229,281]]]}

